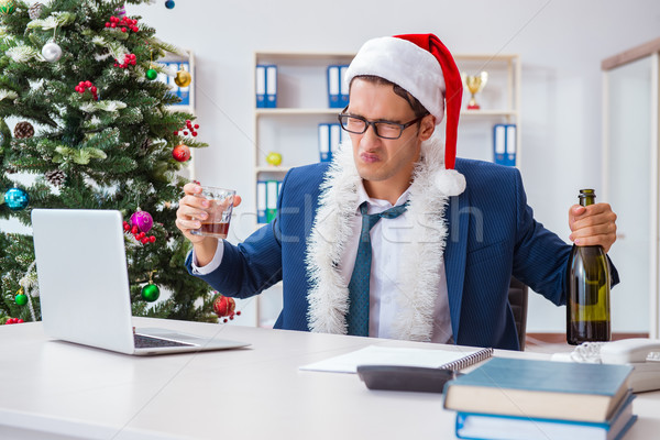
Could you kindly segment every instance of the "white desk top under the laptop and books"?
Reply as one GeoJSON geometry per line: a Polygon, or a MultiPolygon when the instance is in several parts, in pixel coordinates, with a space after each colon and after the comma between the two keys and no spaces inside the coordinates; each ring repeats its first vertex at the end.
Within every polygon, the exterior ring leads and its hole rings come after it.
{"type": "MultiPolygon", "coordinates": [[[[454,413],[439,394],[372,392],[353,374],[298,370],[374,343],[431,344],[146,318],[135,324],[252,345],[138,358],[50,340],[41,323],[0,327],[0,438],[454,438],[454,413]]],[[[660,438],[660,392],[638,395],[634,413],[627,440],[660,438]]]]}

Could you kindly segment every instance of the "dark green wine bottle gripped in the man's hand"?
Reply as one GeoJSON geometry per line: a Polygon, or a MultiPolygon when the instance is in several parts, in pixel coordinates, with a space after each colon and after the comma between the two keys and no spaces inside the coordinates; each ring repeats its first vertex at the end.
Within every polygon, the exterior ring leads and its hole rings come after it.
{"type": "MultiPolygon", "coordinates": [[[[593,189],[580,190],[580,205],[596,201],[593,189]]],[[[602,246],[573,244],[566,276],[566,341],[609,341],[609,265],[602,246]]]]}

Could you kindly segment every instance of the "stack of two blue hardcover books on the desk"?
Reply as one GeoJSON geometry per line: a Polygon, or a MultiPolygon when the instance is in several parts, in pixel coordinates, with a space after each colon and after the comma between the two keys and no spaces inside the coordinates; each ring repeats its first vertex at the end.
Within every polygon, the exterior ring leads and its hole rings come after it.
{"type": "Polygon", "coordinates": [[[494,358],[449,382],[461,439],[622,439],[637,420],[628,365],[494,358]]]}

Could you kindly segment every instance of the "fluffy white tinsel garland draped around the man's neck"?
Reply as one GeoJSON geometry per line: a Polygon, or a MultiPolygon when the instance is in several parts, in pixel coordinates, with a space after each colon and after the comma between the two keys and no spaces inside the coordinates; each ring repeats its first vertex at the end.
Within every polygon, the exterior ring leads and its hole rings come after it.
{"type": "MultiPolygon", "coordinates": [[[[430,341],[433,306],[447,240],[444,210],[450,196],[465,189],[465,178],[444,169],[444,147],[435,136],[421,145],[408,205],[416,251],[403,255],[402,280],[406,295],[397,297],[398,315],[392,334],[396,339],[430,341]]],[[[326,174],[319,208],[308,240],[306,264],[311,288],[308,321],[311,331],[345,334],[349,310],[348,282],[338,268],[351,235],[360,175],[350,141],[344,143],[326,174]]]]}

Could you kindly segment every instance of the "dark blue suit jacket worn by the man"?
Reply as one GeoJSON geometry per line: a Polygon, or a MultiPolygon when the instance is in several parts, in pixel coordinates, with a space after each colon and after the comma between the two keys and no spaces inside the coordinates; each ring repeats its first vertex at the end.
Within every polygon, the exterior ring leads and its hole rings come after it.
{"type": "MultiPolygon", "coordinates": [[[[306,242],[328,164],[292,169],[277,218],[234,246],[224,241],[220,267],[201,276],[227,296],[245,298],[283,280],[275,328],[309,331],[306,242]]],[[[508,304],[512,274],[556,305],[565,304],[571,246],[534,220],[516,168],[457,158],[466,189],[450,198],[444,264],[453,338],[461,345],[518,350],[508,304]]],[[[190,267],[190,256],[186,265],[190,267]]],[[[613,279],[618,282],[616,270],[613,279]]]]}

